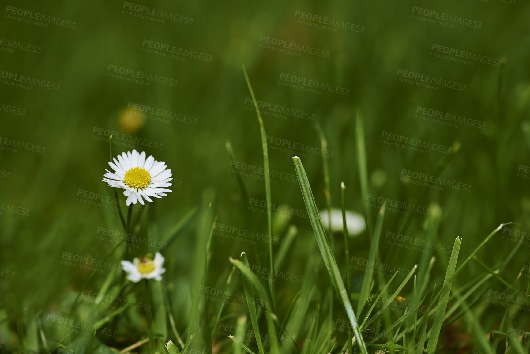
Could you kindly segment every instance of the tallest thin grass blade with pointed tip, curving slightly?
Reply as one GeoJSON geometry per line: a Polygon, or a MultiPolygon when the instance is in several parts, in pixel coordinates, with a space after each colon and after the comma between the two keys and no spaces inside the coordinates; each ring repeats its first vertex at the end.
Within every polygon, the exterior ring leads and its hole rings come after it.
{"type": "MultiPolygon", "coordinates": [[[[254,96],[254,90],[252,90],[252,85],[250,84],[249,75],[246,73],[245,66],[243,65],[243,72],[245,73],[246,84],[249,87],[250,94],[252,96],[252,102],[254,102],[254,107],[256,113],[258,114],[258,120],[260,122],[260,133],[261,133],[261,147],[263,148],[263,180],[265,182],[265,194],[267,198],[267,226],[269,227],[269,266],[272,273],[274,273],[274,262],[272,262],[272,202],[270,198],[270,173],[269,173],[269,153],[267,148],[267,134],[265,133],[265,126],[263,125],[263,119],[261,119],[260,109],[256,97],[254,96]]],[[[269,290],[272,299],[272,307],[276,308],[276,296],[275,296],[275,286],[272,278],[269,278],[269,290]]]]}

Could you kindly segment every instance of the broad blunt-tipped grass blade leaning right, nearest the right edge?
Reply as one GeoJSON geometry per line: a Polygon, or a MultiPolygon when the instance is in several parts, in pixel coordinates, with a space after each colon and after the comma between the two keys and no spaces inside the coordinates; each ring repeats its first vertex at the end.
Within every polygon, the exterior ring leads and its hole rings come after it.
{"type": "Polygon", "coordinates": [[[460,245],[462,239],[456,238],[455,244],[453,246],[453,252],[451,253],[451,258],[449,259],[449,265],[447,267],[447,272],[445,273],[444,280],[444,289],[441,293],[440,300],[438,301],[438,306],[436,308],[436,315],[434,317],[434,322],[432,323],[429,341],[427,342],[427,353],[432,354],[436,350],[436,344],[438,343],[438,336],[440,335],[441,324],[444,322],[445,310],[447,308],[447,300],[449,299],[449,293],[451,292],[451,282],[453,275],[455,274],[456,262],[458,261],[458,253],[460,252],[460,245]]]}

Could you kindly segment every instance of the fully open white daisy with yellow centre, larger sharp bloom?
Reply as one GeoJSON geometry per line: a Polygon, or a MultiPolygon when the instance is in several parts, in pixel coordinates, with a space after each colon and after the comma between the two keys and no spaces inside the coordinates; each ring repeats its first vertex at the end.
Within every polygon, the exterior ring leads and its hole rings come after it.
{"type": "Polygon", "coordinates": [[[109,186],[123,188],[123,195],[127,197],[125,204],[130,203],[144,205],[144,198],[148,202],[153,202],[151,197],[162,198],[161,195],[167,195],[164,192],[171,192],[171,189],[164,187],[171,186],[171,170],[166,170],[164,161],[156,161],[152,156],[145,158],[145,152],[142,153],[128,151],[118,155],[118,160],[112,158],[114,163],[109,161],[110,167],[114,170],[111,172],[107,169],[103,182],[109,186]]]}

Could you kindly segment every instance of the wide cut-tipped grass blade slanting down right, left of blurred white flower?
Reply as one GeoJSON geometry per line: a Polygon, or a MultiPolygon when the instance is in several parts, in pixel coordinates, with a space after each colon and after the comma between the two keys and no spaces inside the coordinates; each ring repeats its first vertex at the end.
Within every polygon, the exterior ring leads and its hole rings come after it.
{"type": "Polygon", "coordinates": [[[313,192],[311,192],[311,186],[309,184],[309,180],[307,179],[304,166],[302,165],[302,161],[300,161],[299,157],[293,157],[293,162],[296,169],[296,176],[298,177],[298,182],[300,183],[300,188],[302,190],[304,203],[307,212],[310,215],[311,226],[316,237],[316,242],[319,245],[320,253],[324,260],[324,264],[326,266],[326,269],[328,270],[331,281],[335,289],[337,290],[340,299],[342,300],[342,305],[345,307],[346,314],[348,315],[348,319],[351,323],[351,327],[354,332],[357,344],[361,352],[363,354],[367,354],[368,350],[366,348],[363,335],[359,331],[357,318],[355,317],[354,309],[351,306],[348,292],[344,287],[339,267],[337,266],[337,262],[335,262],[335,257],[333,256],[333,253],[331,252],[331,247],[328,242],[328,238],[326,237],[324,226],[322,225],[322,220],[320,220],[319,210],[316,208],[315,200],[313,198],[313,192]]]}

